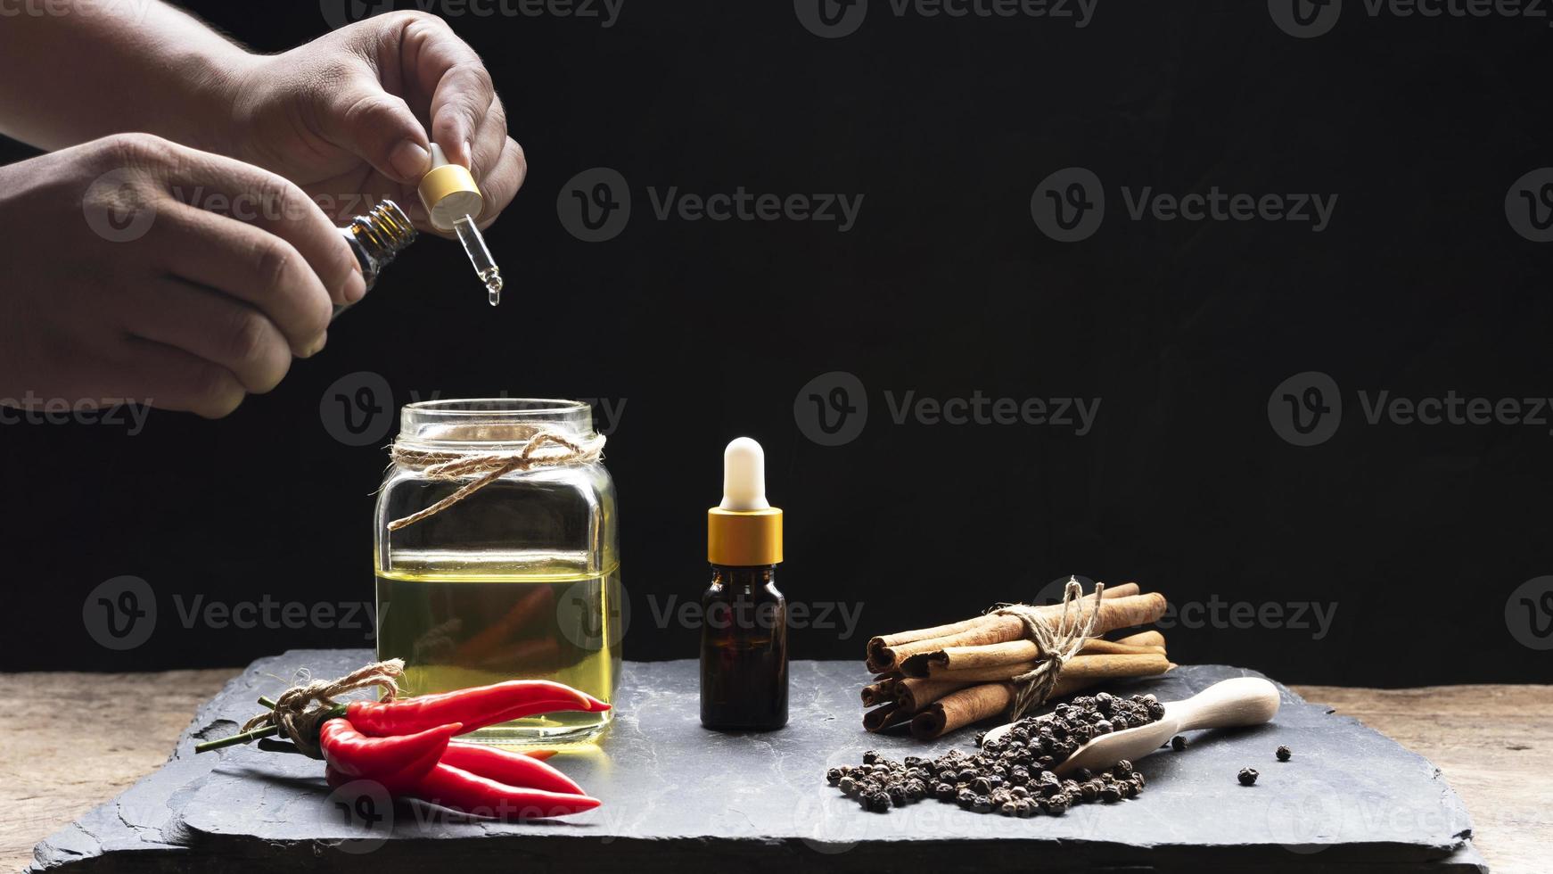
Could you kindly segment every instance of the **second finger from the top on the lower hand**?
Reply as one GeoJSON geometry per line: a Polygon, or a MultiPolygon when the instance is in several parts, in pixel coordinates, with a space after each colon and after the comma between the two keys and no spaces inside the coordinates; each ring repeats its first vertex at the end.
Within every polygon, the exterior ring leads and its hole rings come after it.
{"type": "Polygon", "coordinates": [[[193,206],[158,214],[151,233],[169,241],[168,270],[174,276],[253,306],[280,329],[298,357],[323,346],[334,303],[287,241],[193,206]]]}

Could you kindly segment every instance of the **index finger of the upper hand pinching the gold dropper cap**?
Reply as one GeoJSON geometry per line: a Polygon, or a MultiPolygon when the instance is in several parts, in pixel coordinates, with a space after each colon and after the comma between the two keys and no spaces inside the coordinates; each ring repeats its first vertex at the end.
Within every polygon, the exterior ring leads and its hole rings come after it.
{"type": "Polygon", "coordinates": [[[432,140],[447,160],[471,166],[495,85],[475,50],[441,19],[416,19],[405,26],[405,48],[416,85],[432,95],[432,140]]]}

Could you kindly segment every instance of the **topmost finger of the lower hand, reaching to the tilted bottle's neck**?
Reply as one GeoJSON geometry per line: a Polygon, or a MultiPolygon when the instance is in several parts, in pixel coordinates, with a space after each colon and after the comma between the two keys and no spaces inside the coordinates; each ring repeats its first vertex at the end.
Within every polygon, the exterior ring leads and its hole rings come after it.
{"type": "MultiPolygon", "coordinates": [[[[189,160],[172,171],[171,182],[188,186],[185,191],[199,192],[202,202],[191,203],[193,206],[214,203],[214,196],[224,196],[227,203],[222,214],[290,244],[323,284],[331,301],[356,303],[367,295],[367,281],[362,279],[360,265],[340,228],[301,188],[267,169],[224,155],[193,149],[189,155],[189,160]]],[[[200,284],[224,287],[219,283],[200,284]]]]}

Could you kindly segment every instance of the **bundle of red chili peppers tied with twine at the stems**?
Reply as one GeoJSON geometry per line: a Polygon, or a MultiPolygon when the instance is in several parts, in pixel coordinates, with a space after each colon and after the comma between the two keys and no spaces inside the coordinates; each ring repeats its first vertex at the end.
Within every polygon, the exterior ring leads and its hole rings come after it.
{"type": "MultiPolygon", "coordinates": [[[[592,810],[599,804],[572,778],[542,761],[550,753],[522,754],[453,739],[526,716],[609,709],[607,703],[570,686],[547,680],[511,680],[382,702],[332,703],[328,695],[312,697],[325,702],[307,711],[314,719],[304,722],[317,727],[317,744],[295,734],[292,740],[301,751],[312,754],[317,750],[321,754],[329,786],[370,779],[401,798],[418,798],[460,813],[499,820],[562,817],[592,810]]],[[[286,702],[287,695],[281,700],[286,702]]],[[[281,705],[269,699],[259,699],[259,703],[272,708],[272,713],[281,711],[281,705]]],[[[284,733],[284,720],[270,722],[233,737],[200,744],[194,750],[203,753],[284,733]]]]}

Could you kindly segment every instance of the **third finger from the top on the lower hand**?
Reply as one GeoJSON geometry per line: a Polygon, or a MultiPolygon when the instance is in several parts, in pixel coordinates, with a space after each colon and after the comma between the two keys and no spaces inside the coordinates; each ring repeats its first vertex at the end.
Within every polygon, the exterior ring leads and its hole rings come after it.
{"type": "Polygon", "coordinates": [[[134,307],[126,328],[144,340],[227,368],[250,394],[280,385],[292,354],[258,309],[183,279],[163,279],[134,307]]]}

